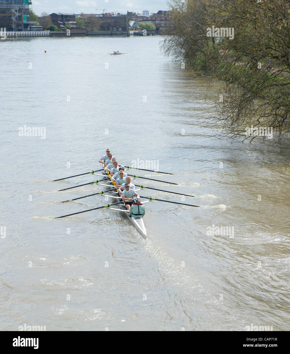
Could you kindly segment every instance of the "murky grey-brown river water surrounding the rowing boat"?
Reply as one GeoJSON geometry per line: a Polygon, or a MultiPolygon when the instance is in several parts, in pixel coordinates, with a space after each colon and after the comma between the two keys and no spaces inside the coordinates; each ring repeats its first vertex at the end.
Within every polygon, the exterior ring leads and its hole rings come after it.
{"type": "Polygon", "coordinates": [[[165,57],[161,40],[0,42],[0,330],[290,330],[289,140],[218,138],[204,99],[218,84],[165,57]],[[24,126],[42,138],[19,136],[24,126]],[[108,209],[54,219],[107,203],[58,203],[103,190],[57,192],[99,176],[52,182],[99,169],[106,148],[125,165],[157,161],[174,175],[132,171],[178,185],[135,183],[196,196],[140,195],[200,207],[144,204],[147,240],[108,209]]]}

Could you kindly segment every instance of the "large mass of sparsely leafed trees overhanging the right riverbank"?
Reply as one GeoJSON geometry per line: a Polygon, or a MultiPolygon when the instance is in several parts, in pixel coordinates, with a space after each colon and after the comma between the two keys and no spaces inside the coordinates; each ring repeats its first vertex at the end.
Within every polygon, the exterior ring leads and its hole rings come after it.
{"type": "Polygon", "coordinates": [[[289,0],[172,0],[164,49],[176,61],[222,82],[217,117],[232,137],[245,127],[290,133],[289,0]],[[214,26],[215,34],[210,35],[214,26]],[[234,36],[216,29],[234,29],[234,36]],[[227,38],[228,37],[228,38],[227,38]]]}

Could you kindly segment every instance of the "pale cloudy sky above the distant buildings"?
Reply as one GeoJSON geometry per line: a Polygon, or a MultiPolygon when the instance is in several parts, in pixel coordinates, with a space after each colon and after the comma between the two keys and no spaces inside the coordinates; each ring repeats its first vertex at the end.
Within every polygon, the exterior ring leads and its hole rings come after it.
{"type": "Polygon", "coordinates": [[[38,16],[42,12],[102,13],[103,8],[107,9],[104,12],[133,11],[141,14],[143,10],[149,13],[168,10],[166,0],[32,0],[30,8],[38,16]]]}

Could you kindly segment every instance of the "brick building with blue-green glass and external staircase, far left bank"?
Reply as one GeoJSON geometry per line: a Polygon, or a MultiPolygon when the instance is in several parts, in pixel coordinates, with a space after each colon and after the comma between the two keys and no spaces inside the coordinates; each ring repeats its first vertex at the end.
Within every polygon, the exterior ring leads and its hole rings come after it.
{"type": "Polygon", "coordinates": [[[29,31],[30,25],[36,22],[29,21],[30,0],[0,0],[0,28],[6,31],[29,31]]]}

